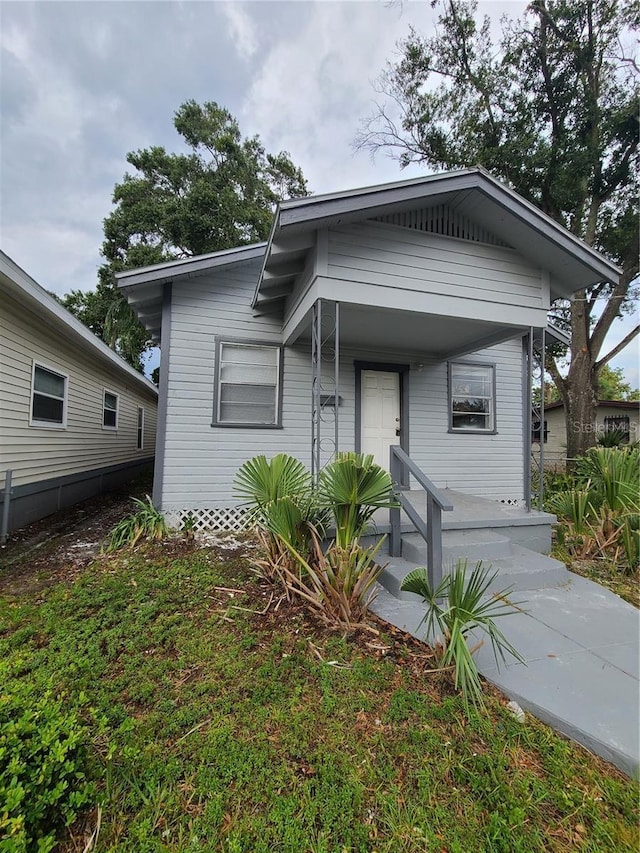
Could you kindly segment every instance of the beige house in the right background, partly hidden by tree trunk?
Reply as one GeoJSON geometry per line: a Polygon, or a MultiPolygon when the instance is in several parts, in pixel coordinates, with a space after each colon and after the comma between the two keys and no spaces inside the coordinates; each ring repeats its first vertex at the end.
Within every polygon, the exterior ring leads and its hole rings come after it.
{"type": "MultiPolygon", "coordinates": [[[[578,425],[582,428],[582,425],[578,425]]],[[[640,403],[625,400],[600,400],[594,431],[597,436],[620,431],[623,443],[640,441],[640,403]]],[[[564,404],[548,403],[544,410],[544,466],[564,468],[567,461],[567,419],[564,404]]],[[[540,420],[533,424],[533,454],[540,453],[540,420]]]]}

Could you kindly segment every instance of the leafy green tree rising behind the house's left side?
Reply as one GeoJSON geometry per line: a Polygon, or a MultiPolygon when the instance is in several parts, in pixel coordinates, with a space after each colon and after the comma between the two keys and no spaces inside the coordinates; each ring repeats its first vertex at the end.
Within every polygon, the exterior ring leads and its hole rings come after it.
{"type": "Polygon", "coordinates": [[[149,341],[114,273],[264,240],[276,203],[307,194],[289,155],[266,153],[257,136],[243,138],[218,104],[187,101],[174,125],[187,150],[154,146],[127,155],[135,172],[114,190],[97,288],[62,300],[138,370],[149,341]]]}

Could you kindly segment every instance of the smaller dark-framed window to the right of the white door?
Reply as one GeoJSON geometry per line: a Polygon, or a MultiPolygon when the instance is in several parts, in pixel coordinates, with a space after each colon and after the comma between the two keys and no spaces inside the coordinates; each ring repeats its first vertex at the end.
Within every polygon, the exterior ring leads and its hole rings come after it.
{"type": "Polygon", "coordinates": [[[452,432],[495,432],[495,367],[449,363],[449,427],[452,432]]]}

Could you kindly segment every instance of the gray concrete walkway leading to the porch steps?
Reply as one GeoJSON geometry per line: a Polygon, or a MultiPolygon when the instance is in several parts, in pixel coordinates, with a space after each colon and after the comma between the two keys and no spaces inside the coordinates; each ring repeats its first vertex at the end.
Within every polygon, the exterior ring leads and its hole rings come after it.
{"type": "MultiPolygon", "coordinates": [[[[424,607],[382,587],[381,618],[424,639],[424,607]]],[[[640,613],[599,584],[572,573],[560,585],[514,594],[526,612],[499,620],[526,666],[496,668],[490,644],[477,653],[480,672],[510,699],[554,729],[611,761],[640,772],[640,613]]]]}

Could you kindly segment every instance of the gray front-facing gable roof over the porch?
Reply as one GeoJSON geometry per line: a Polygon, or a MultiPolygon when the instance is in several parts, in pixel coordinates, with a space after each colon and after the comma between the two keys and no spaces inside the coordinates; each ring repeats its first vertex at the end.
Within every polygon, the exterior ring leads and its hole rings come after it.
{"type": "Polygon", "coordinates": [[[474,167],[282,202],[274,217],[253,306],[271,301],[263,293],[266,278],[277,278],[278,299],[286,297],[286,293],[281,295],[282,286],[285,290],[287,284],[292,286],[304,268],[312,245],[308,238],[317,229],[439,204],[490,229],[536,266],[544,259],[552,299],[567,298],[600,281],[618,280],[620,270],[615,264],[484,169],[474,167]]]}

